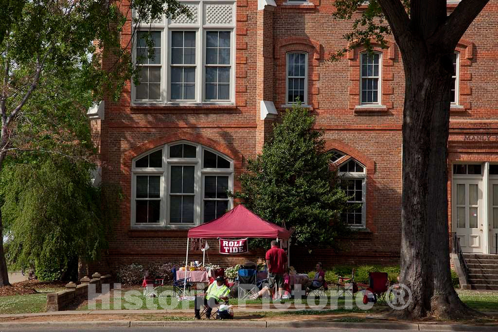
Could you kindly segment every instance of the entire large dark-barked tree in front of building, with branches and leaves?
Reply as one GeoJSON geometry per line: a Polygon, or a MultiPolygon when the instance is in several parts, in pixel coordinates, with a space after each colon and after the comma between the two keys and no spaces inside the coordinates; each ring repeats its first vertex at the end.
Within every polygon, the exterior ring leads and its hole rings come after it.
{"type": "MultiPolygon", "coordinates": [[[[405,74],[401,195],[401,283],[412,292],[408,318],[477,314],[452,287],[448,234],[448,135],[451,57],[458,41],[488,0],[462,0],[448,14],[446,0],[370,0],[349,46],[385,45],[392,33],[405,74]]],[[[364,0],[336,0],[339,19],[351,19],[364,0]]]]}

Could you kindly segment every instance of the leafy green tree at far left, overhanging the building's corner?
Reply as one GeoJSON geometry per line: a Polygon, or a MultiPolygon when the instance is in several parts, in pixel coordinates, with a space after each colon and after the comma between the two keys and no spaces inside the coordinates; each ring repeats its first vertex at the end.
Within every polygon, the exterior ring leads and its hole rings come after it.
{"type": "MultiPolygon", "coordinates": [[[[118,98],[125,82],[136,80],[129,52],[132,38],[127,36],[128,43],[122,44],[132,12],[135,24],[162,14],[190,15],[176,0],[121,5],[109,0],[0,0],[0,171],[7,155],[19,151],[85,160],[88,150],[78,137],[85,130],[78,121],[82,114],[74,119],[65,109],[80,101],[72,94],[73,77],[82,78],[82,96],[92,92],[94,101],[118,98]]],[[[0,245],[0,287],[8,285],[4,256],[0,245]]]]}

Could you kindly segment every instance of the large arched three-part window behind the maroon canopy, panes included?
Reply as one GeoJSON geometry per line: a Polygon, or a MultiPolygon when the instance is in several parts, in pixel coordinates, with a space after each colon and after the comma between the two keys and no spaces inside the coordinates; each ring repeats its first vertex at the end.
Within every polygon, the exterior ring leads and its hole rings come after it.
{"type": "Polygon", "coordinates": [[[234,162],[189,141],[169,143],[132,160],[131,225],[190,227],[232,208],[234,162]]]}

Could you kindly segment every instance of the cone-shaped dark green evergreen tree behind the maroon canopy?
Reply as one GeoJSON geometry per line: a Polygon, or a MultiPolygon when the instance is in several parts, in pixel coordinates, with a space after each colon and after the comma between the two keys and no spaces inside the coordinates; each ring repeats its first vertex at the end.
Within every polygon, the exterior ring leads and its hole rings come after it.
{"type": "Polygon", "coordinates": [[[300,105],[285,111],[262,153],[248,159],[235,197],[261,218],[293,227],[297,244],[332,246],[348,229],[340,221],[347,198],[330,169],[323,133],[312,129],[314,120],[300,105]]]}

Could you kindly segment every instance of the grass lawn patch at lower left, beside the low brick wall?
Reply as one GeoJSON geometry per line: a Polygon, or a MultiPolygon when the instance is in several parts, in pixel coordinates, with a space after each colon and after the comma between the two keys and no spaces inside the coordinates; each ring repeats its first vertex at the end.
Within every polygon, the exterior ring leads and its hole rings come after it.
{"type": "Polygon", "coordinates": [[[45,312],[47,294],[64,290],[65,288],[35,289],[37,294],[11,295],[0,297],[1,314],[24,314],[45,312]]]}

